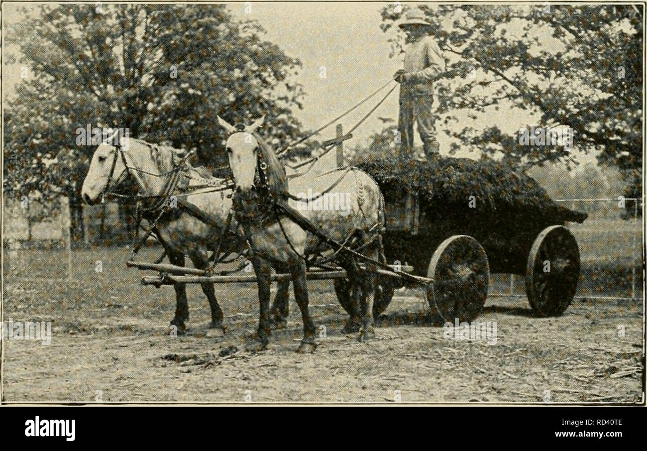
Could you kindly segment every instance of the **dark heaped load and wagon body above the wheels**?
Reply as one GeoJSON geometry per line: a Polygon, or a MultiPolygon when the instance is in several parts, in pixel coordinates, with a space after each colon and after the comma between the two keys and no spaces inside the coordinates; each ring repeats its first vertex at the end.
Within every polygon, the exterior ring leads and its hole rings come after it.
{"type": "Polygon", "coordinates": [[[421,274],[428,256],[420,250],[457,234],[483,245],[492,272],[522,274],[527,250],[543,228],[587,217],[555,203],[532,177],[499,162],[445,157],[433,166],[400,159],[359,166],[377,181],[388,206],[406,205],[403,215],[417,216],[415,226],[388,227],[385,247],[389,258],[408,261],[421,274]]]}

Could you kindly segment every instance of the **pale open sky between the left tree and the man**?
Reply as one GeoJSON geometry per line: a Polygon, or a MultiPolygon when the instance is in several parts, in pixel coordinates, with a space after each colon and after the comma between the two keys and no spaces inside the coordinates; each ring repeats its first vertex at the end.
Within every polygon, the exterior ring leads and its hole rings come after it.
{"type": "MultiPolygon", "coordinates": [[[[401,58],[389,58],[388,36],[380,30],[380,10],[386,3],[251,3],[245,13],[244,3],[229,4],[239,19],[256,19],[267,30],[267,39],[292,57],[299,58],[302,83],[307,97],[303,110],[296,112],[303,125],[317,129],[366,98],[393,78],[402,67],[401,58]],[[326,78],[320,78],[325,67],[326,78]]],[[[343,120],[352,127],[364,116],[388,87],[343,120]]],[[[378,116],[397,119],[396,89],[356,133],[366,138],[380,131],[378,116]]],[[[334,126],[323,133],[334,136],[334,126]]]]}

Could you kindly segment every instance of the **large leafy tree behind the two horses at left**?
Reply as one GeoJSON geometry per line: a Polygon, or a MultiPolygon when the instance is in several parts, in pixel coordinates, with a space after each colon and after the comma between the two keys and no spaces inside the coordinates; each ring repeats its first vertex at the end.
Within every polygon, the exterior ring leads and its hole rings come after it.
{"type": "Polygon", "coordinates": [[[76,144],[78,128],[124,127],[196,149],[194,162],[214,170],[226,162],[216,115],[266,115],[277,146],[301,136],[292,115],[303,96],[300,61],[224,5],[43,5],[38,17],[23,14],[5,39],[28,69],[5,104],[5,193],[67,195],[76,239],[96,148],[76,144]]]}

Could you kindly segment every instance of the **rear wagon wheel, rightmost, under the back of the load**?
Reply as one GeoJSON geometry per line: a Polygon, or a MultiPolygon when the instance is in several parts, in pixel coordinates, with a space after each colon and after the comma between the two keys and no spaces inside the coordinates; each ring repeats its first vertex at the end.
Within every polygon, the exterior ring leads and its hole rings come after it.
{"type": "Polygon", "coordinates": [[[528,301],[536,316],[560,316],[570,305],[580,278],[580,249],[571,232],[555,225],[536,237],[526,267],[528,301]]]}

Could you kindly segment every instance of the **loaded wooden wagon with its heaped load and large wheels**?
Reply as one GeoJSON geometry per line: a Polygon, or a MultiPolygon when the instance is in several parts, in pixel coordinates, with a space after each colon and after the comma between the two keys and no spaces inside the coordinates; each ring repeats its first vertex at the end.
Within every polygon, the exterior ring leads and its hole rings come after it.
{"type": "MultiPolygon", "coordinates": [[[[536,316],[558,316],[573,300],[580,254],[564,224],[587,215],[554,203],[531,177],[496,162],[456,158],[360,167],[385,197],[387,261],[408,263],[413,274],[435,281],[430,303],[444,319],[476,317],[490,272],[523,275],[536,316]]],[[[375,314],[401,285],[380,281],[375,314]]],[[[347,283],[338,280],[335,288],[343,305],[347,283]]]]}

